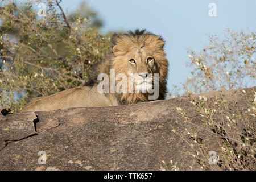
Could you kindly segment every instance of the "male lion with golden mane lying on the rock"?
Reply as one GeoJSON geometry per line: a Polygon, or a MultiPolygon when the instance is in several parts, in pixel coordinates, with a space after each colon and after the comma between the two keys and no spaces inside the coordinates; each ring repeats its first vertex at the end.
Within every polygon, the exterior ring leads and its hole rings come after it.
{"type": "MultiPolygon", "coordinates": [[[[114,34],[110,41],[110,46],[109,58],[101,61],[95,67],[92,75],[90,75],[89,81],[84,86],[64,90],[63,92],[47,97],[40,97],[31,101],[22,111],[49,111],[70,107],[117,106],[150,101],[148,96],[151,94],[147,92],[147,84],[152,81],[153,87],[158,87],[159,94],[156,99],[164,99],[166,95],[168,61],[163,49],[164,41],[160,36],[151,34],[145,30],[129,31],[128,34],[114,34]],[[110,69],[114,69],[115,75],[123,73],[127,77],[131,77],[130,74],[133,73],[133,90],[137,89],[139,92],[100,93],[98,89],[100,84],[98,75],[105,73],[105,75],[110,76],[110,69]],[[154,82],[155,75],[159,76],[158,82],[154,82]]],[[[109,82],[110,80],[111,78],[109,82]]],[[[129,81],[127,79],[126,84],[129,84],[129,81]]],[[[116,86],[118,82],[114,82],[114,84],[116,86]]]]}

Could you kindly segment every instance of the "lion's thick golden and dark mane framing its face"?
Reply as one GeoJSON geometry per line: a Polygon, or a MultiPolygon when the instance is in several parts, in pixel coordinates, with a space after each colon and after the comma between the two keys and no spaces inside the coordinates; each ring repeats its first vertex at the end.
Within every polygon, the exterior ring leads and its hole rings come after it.
{"type": "MultiPolygon", "coordinates": [[[[159,97],[164,99],[166,96],[166,84],[168,73],[168,61],[164,52],[164,40],[161,36],[146,32],[146,30],[129,31],[128,34],[113,34],[110,39],[111,51],[108,57],[92,68],[88,82],[85,86],[93,86],[100,81],[97,76],[100,73],[110,75],[110,69],[115,69],[115,75],[124,73],[127,76],[125,65],[120,61],[121,57],[131,50],[131,47],[148,47],[154,52],[157,70],[159,73],[159,97]]],[[[148,101],[148,94],[143,93],[115,93],[121,104],[134,104],[137,102],[148,101]]]]}

